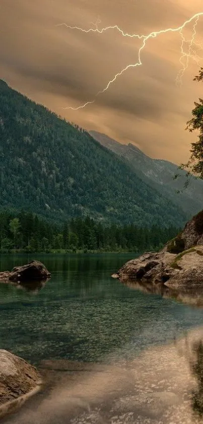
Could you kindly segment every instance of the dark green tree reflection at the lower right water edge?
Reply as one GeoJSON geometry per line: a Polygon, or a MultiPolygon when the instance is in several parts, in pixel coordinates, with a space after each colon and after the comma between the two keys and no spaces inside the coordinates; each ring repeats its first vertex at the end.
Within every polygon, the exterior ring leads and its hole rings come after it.
{"type": "Polygon", "coordinates": [[[191,365],[192,373],[197,379],[197,389],[192,393],[192,408],[200,417],[203,416],[203,344],[198,341],[193,345],[193,352],[196,356],[195,362],[191,365]]]}

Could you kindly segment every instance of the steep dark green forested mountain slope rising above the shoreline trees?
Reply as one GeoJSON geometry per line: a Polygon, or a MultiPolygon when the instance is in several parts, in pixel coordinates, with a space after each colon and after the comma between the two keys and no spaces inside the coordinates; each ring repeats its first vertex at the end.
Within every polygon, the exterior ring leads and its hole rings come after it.
{"type": "Polygon", "coordinates": [[[0,80],[1,208],[61,222],[182,226],[184,211],[123,158],[0,80]]]}

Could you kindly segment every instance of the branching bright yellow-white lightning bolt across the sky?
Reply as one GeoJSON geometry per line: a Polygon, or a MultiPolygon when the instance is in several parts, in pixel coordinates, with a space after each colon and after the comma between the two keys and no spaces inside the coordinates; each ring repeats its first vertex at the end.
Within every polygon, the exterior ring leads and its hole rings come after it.
{"type": "Polygon", "coordinates": [[[71,26],[71,25],[67,25],[66,23],[61,23],[58,24],[56,26],[65,26],[66,28],[69,29],[76,29],[85,33],[89,33],[89,32],[98,32],[99,34],[102,34],[105,31],[108,30],[117,30],[123,37],[130,37],[130,38],[138,38],[140,40],[142,40],[142,45],[138,51],[138,61],[136,63],[132,63],[127,65],[125,68],[121,69],[121,71],[117,72],[114,77],[112,79],[110,79],[108,81],[108,83],[106,84],[106,86],[104,87],[103,90],[99,91],[96,96],[95,99],[92,101],[87,101],[86,103],[82,104],[81,106],[78,107],[65,107],[63,109],[72,109],[72,110],[79,110],[79,109],[83,109],[85,108],[87,105],[92,104],[95,102],[96,97],[99,96],[100,94],[104,93],[105,91],[108,90],[108,88],[110,87],[110,85],[115,82],[115,80],[121,76],[125,71],[127,71],[127,69],[130,68],[136,68],[138,66],[142,66],[142,51],[145,49],[147,41],[150,38],[156,38],[157,36],[161,35],[161,34],[166,34],[168,32],[179,32],[181,35],[181,57],[180,57],[180,64],[182,65],[182,68],[180,69],[180,71],[178,72],[178,75],[176,77],[176,84],[181,84],[182,83],[182,76],[185,72],[185,70],[188,67],[188,63],[189,63],[189,59],[192,58],[198,65],[199,65],[199,61],[200,61],[200,57],[197,55],[196,51],[193,49],[193,46],[197,46],[199,47],[199,50],[202,49],[203,47],[203,43],[201,41],[196,42],[195,41],[195,35],[196,35],[196,25],[198,23],[199,17],[203,16],[203,12],[199,12],[196,13],[195,15],[191,16],[191,18],[187,19],[181,26],[177,27],[177,28],[166,28],[166,29],[161,29],[159,31],[152,31],[147,35],[144,34],[130,34],[127,32],[124,32],[121,28],[118,27],[118,25],[113,25],[113,26],[107,26],[104,28],[99,29],[98,28],[98,24],[101,23],[100,19],[98,18],[96,23],[93,23],[94,28],[89,28],[89,29],[85,29],[85,28],[81,28],[79,26],[71,26]],[[193,31],[192,31],[192,37],[189,40],[186,40],[184,35],[183,35],[183,30],[186,27],[186,25],[190,24],[192,21],[194,21],[193,24],[193,31]],[[188,53],[186,53],[184,51],[184,44],[189,44],[188,45],[188,53]],[[186,59],[186,62],[184,61],[184,59],[186,59]]]}

